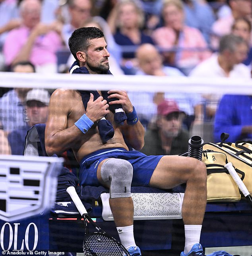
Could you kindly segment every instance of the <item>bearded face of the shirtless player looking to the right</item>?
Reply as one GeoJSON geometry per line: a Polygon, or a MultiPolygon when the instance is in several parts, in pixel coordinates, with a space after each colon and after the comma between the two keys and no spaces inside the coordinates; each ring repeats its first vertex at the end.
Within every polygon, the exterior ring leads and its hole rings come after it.
{"type": "Polygon", "coordinates": [[[91,39],[85,66],[91,74],[101,74],[109,70],[109,56],[104,37],[91,39]]]}

